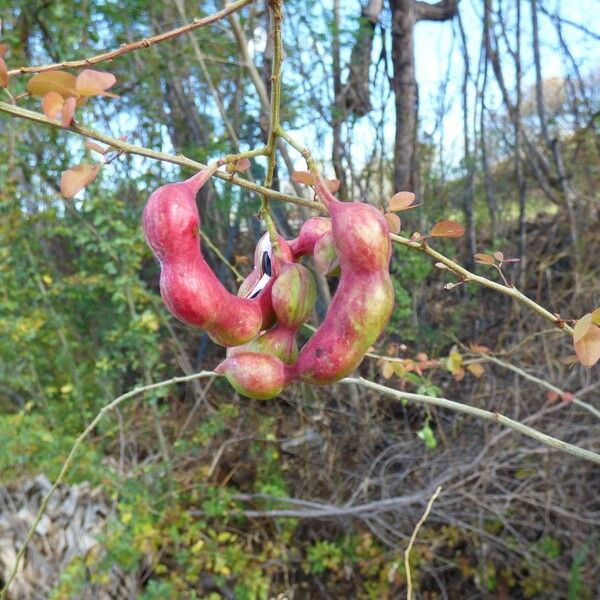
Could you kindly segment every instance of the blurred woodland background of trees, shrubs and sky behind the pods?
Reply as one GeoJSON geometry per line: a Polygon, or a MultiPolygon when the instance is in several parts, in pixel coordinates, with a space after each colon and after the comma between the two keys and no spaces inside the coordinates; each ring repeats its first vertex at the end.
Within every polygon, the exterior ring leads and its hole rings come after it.
{"type": "MultiPolygon", "coordinates": [[[[245,4],[95,65],[115,75],[118,97],[92,98],[77,123],[203,164],[264,144],[269,11],[245,4]]],[[[0,42],[10,71],[222,8],[0,0],[0,42]]],[[[419,206],[400,213],[401,235],[462,223],[464,236],[431,247],[504,288],[461,282],[395,244],[394,314],[360,374],[589,451],[600,450],[598,366],[576,363],[561,324],[600,306],[597,10],[591,0],[285,0],[281,89],[282,125],[341,181],[341,198],[387,209],[413,191],[419,206]]],[[[140,228],[148,195],[189,175],[185,161],[115,152],[65,199],[62,174],[101,157],[83,137],[11,112],[41,112],[39,97],[20,96],[31,75],[11,73],[0,102],[0,584],[102,407],[223,357],[164,308],[140,228]]],[[[292,181],[305,168],[287,147],[272,189],[311,200],[292,181]]],[[[239,175],[265,172],[259,157],[239,175]]],[[[235,290],[264,232],[260,196],[215,181],[198,202],[205,256],[235,290]]],[[[269,205],[287,238],[316,214],[269,205]]],[[[364,385],[297,385],[256,402],[194,379],[123,402],[90,430],[8,597],[397,598],[412,574],[419,598],[597,598],[599,483],[580,456],[364,385]]]]}

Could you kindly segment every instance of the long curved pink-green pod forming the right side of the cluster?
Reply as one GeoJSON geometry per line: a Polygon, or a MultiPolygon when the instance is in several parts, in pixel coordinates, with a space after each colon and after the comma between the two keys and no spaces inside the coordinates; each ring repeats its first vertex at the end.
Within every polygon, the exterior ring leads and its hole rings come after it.
{"type": "Polygon", "coordinates": [[[303,381],[332,383],[351,373],[381,335],[392,313],[391,242],[383,215],[362,202],[339,202],[319,179],[329,209],[341,276],[325,319],[295,365],[303,381]]]}

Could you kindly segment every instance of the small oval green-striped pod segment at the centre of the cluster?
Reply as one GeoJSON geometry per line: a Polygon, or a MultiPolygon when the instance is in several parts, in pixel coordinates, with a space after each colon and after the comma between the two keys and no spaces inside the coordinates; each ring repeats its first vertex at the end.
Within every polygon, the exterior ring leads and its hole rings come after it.
{"type": "Polygon", "coordinates": [[[271,290],[273,310],[278,322],[297,329],[312,314],[317,301],[317,286],[312,273],[297,263],[281,267],[271,290]]]}

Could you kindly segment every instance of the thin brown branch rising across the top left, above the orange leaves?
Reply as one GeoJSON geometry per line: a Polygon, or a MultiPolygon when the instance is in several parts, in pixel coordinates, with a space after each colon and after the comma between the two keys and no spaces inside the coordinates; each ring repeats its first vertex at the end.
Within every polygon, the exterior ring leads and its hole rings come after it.
{"type": "Polygon", "coordinates": [[[8,74],[10,76],[13,76],[23,75],[24,73],[42,73],[43,71],[53,71],[55,69],[79,69],[81,67],[89,67],[90,65],[94,65],[99,62],[104,62],[106,60],[113,60],[114,58],[122,56],[123,54],[127,54],[128,52],[133,52],[135,50],[139,50],[140,48],[150,48],[150,46],[154,46],[155,44],[160,44],[161,42],[172,40],[173,38],[179,37],[180,35],[183,35],[185,33],[189,33],[194,29],[198,29],[200,27],[210,25],[211,23],[215,23],[216,21],[220,21],[224,17],[234,12],[237,12],[247,4],[251,4],[254,1],[255,0],[237,0],[237,2],[228,4],[222,10],[212,15],[208,15],[207,17],[203,17],[202,19],[194,19],[191,23],[178,27],[177,29],[165,31],[164,33],[155,35],[150,38],[143,38],[141,40],[138,40],[137,42],[131,42],[130,44],[124,44],[120,48],[110,50],[109,52],[103,52],[102,54],[97,54],[96,56],[91,56],[82,60],[69,60],[61,63],[52,63],[48,65],[19,67],[17,69],[10,70],[8,74]]]}

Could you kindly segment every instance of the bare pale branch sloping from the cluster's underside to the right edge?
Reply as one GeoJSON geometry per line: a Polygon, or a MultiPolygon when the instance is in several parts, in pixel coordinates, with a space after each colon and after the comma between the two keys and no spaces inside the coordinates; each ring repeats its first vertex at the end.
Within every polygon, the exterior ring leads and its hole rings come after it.
{"type": "Polygon", "coordinates": [[[520,433],[521,435],[530,437],[540,442],[541,444],[544,444],[545,446],[555,448],[556,450],[560,450],[561,452],[565,452],[566,454],[571,454],[572,456],[576,456],[577,458],[588,460],[590,462],[600,465],[600,454],[592,452],[591,450],[580,448],[579,446],[575,446],[573,444],[569,444],[568,442],[563,442],[562,440],[542,433],[537,429],[533,429],[533,427],[523,425],[523,423],[519,423],[518,421],[510,419],[509,417],[505,417],[504,415],[501,415],[497,412],[491,412],[489,410],[484,410],[483,408],[469,406],[468,404],[462,404],[461,402],[448,400],[446,398],[434,398],[432,396],[424,396],[422,394],[411,394],[409,392],[401,392],[399,390],[386,387],[385,385],[381,385],[373,381],[368,381],[367,379],[363,379],[362,377],[346,377],[346,379],[342,379],[340,383],[353,383],[356,385],[360,385],[362,387],[366,387],[368,389],[379,392],[384,396],[393,398],[394,400],[408,400],[418,402],[420,404],[425,404],[427,406],[439,406],[440,408],[445,408],[448,410],[453,410],[454,412],[471,415],[473,417],[477,417],[478,419],[483,419],[484,421],[499,423],[500,425],[504,425],[505,427],[508,427],[509,429],[520,433]]]}

